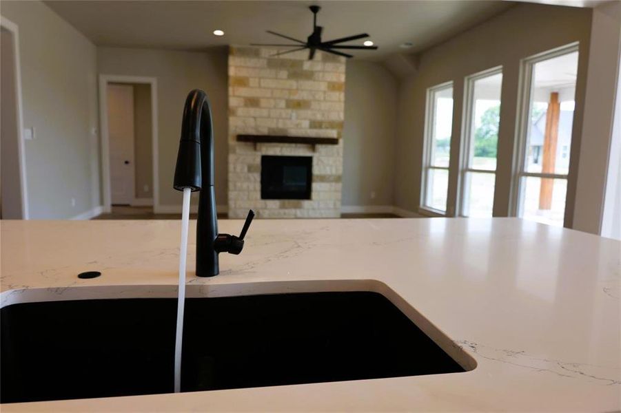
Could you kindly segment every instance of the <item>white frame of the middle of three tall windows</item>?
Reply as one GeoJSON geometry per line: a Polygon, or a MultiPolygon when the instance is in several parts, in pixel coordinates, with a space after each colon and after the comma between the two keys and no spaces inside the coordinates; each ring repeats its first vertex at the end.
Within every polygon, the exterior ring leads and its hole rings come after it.
{"type": "MultiPolygon", "coordinates": [[[[467,174],[468,173],[491,173],[496,178],[496,172],[498,171],[498,153],[496,153],[496,169],[491,171],[490,169],[476,169],[470,167],[470,151],[472,149],[472,114],[474,110],[474,84],[476,81],[489,76],[495,76],[502,73],[502,65],[490,67],[489,69],[476,72],[464,78],[464,110],[462,115],[462,136],[460,143],[460,163],[459,163],[459,184],[458,184],[458,216],[467,218],[465,215],[466,202],[467,202],[467,174]]],[[[502,108],[502,83],[500,84],[500,107],[502,108]]],[[[494,186],[494,194],[496,193],[496,186],[494,186]]],[[[494,197],[495,198],[495,197],[494,197]]],[[[493,216],[493,204],[492,204],[492,216],[493,216]]]]}

